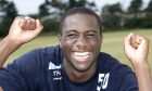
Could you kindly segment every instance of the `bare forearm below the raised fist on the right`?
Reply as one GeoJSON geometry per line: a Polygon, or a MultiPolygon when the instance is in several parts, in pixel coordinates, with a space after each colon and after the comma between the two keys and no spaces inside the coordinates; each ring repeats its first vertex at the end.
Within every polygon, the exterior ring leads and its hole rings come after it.
{"type": "Polygon", "coordinates": [[[149,64],[148,63],[136,64],[134,65],[134,69],[137,76],[139,91],[151,91],[152,77],[149,64]]]}

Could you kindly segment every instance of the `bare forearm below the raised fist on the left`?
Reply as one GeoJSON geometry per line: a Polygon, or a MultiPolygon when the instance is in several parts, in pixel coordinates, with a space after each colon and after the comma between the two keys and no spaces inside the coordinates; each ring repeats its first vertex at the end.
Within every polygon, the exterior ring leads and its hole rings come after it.
{"type": "Polygon", "coordinates": [[[7,58],[20,47],[21,46],[11,40],[9,36],[0,42],[0,68],[3,66],[7,58]]]}

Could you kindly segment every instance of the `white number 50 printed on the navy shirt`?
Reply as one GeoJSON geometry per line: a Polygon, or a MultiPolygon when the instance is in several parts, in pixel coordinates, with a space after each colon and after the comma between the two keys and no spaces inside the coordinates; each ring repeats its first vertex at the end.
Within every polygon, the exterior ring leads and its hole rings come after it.
{"type": "Polygon", "coordinates": [[[100,91],[101,89],[106,89],[109,84],[109,78],[110,78],[110,73],[99,74],[97,91],[100,91]]]}

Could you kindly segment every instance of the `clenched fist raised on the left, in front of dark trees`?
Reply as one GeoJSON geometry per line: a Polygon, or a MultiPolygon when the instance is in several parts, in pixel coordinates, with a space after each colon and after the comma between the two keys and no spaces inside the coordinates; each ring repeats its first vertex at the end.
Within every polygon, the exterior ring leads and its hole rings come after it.
{"type": "Polygon", "coordinates": [[[23,44],[36,38],[42,28],[39,20],[17,16],[11,25],[8,37],[13,40],[13,42],[23,44]]]}

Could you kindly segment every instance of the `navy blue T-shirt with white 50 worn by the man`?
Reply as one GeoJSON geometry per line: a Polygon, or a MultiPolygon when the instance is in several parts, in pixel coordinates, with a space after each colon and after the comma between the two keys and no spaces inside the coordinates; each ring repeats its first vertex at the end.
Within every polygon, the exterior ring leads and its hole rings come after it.
{"type": "Polygon", "coordinates": [[[96,74],[86,82],[68,79],[59,46],[33,50],[0,69],[4,91],[138,91],[132,70],[106,53],[100,53],[96,74]]]}

